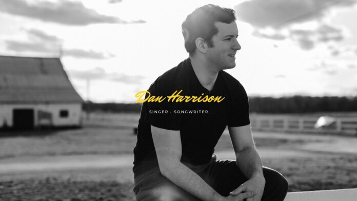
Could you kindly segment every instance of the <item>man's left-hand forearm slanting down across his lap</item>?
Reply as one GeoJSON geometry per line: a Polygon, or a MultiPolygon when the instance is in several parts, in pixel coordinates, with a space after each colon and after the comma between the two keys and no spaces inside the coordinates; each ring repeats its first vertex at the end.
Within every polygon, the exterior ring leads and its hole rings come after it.
{"type": "Polygon", "coordinates": [[[177,162],[174,168],[167,169],[163,175],[175,185],[183,188],[197,198],[205,201],[219,201],[223,199],[223,196],[217,193],[199,175],[181,162],[177,162]]]}

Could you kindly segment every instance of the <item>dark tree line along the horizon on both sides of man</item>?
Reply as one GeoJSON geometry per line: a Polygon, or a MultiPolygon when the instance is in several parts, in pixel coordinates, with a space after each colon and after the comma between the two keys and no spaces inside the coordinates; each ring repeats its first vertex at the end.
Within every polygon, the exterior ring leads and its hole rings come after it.
{"type": "MultiPolygon", "coordinates": [[[[289,96],[289,97],[249,97],[249,111],[256,113],[311,113],[311,112],[351,112],[357,111],[357,96],[289,96]]],[[[92,103],[83,104],[84,111],[138,113],[141,104],[92,103]]]]}

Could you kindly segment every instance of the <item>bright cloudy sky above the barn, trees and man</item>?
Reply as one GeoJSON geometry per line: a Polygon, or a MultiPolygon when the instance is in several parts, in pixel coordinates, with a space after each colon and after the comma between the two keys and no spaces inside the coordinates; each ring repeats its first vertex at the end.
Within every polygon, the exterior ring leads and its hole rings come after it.
{"type": "Polygon", "coordinates": [[[76,91],[134,103],[188,57],[181,24],[195,8],[236,12],[236,67],[249,96],[356,96],[357,0],[0,0],[0,55],[61,57],[76,91]]]}

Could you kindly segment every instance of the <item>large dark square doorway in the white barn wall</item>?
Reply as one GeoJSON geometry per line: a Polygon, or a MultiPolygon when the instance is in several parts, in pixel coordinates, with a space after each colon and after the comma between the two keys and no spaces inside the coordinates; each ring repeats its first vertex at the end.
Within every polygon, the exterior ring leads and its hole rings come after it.
{"type": "Polygon", "coordinates": [[[33,109],[14,109],[13,128],[18,130],[33,129],[34,127],[34,111],[33,109]]]}

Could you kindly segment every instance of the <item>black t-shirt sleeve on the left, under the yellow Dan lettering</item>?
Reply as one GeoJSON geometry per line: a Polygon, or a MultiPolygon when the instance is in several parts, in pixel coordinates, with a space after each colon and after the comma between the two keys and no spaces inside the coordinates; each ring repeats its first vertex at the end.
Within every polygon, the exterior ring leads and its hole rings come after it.
{"type": "Polygon", "coordinates": [[[150,96],[162,96],[163,99],[161,103],[158,101],[145,102],[149,110],[150,125],[167,130],[180,130],[181,117],[174,112],[174,110],[177,109],[178,104],[175,102],[168,102],[167,98],[167,96],[172,95],[176,90],[179,91],[179,89],[175,89],[173,84],[167,79],[157,79],[150,86],[150,96]]]}

